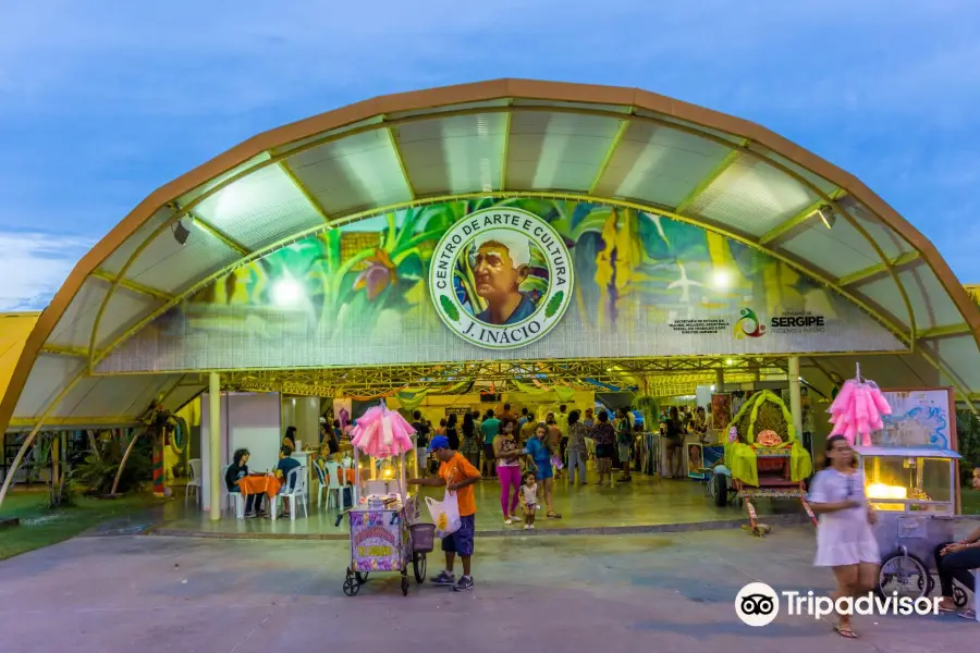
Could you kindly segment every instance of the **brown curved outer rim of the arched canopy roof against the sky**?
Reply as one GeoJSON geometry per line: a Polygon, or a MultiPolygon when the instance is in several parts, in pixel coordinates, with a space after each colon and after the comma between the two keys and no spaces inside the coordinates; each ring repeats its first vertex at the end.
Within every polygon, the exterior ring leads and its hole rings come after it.
{"type": "Polygon", "coordinates": [[[8,392],[0,402],[0,431],[5,429],[27,381],[34,361],[75,294],[99,263],[133,235],[163,205],[191,192],[209,180],[228,172],[264,151],[328,132],[379,114],[418,111],[448,104],[487,101],[501,98],[622,104],[658,112],[703,127],[726,132],[758,145],[836,184],[865,204],[892,229],[917,248],[927,264],[942,282],[950,297],[967,321],[980,345],[980,308],[959,284],[945,260],[924,235],[891,206],[850,173],[756,123],[710,109],[667,98],[637,88],[539,82],[530,79],[495,79],[380,96],[333,111],[275,127],[254,136],[206,163],[157,188],[113,227],[72,270],[41,313],[30,332],[24,350],[11,374],[8,392]]]}

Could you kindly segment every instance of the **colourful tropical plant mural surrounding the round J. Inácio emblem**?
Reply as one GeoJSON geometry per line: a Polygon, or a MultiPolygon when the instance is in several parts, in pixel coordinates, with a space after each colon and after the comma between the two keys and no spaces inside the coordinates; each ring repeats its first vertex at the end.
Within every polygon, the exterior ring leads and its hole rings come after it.
{"type": "MultiPolygon", "coordinates": [[[[531,246],[528,271],[519,275],[522,296],[537,300],[544,291],[543,256],[531,246]]],[[[476,260],[470,249],[456,267],[476,260]]],[[[483,309],[477,295],[456,297],[463,313],[483,309]]],[[[901,348],[846,298],[698,226],[599,204],[485,198],[377,215],[274,250],[161,315],[99,370],[901,348]],[[537,215],[571,257],[575,283],[567,308],[530,344],[481,347],[451,330],[433,305],[437,245],[485,209],[537,215]]]]}

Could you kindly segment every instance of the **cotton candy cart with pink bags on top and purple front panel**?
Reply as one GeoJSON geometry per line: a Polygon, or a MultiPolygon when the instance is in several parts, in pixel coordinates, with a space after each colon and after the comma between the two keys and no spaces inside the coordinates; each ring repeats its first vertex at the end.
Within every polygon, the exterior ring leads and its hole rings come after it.
{"type": "MultiPolygon", "coordinates": [[[[346,515],[351,527],[351,565],[343,583],[347,596],[356,596],[368,575],[378,571],[399,572],[407,596],[409,564],[416,582],[426,580],[434,527],[419,522],[417,496],[407,493],[405,453],[414,449],[414,434],[405,419],[383,404],[365,412],[354,428],[354,507],[336,518],[340,526],[346,515]],[[369,465],[362,475],[365,455],[369,465]]],[[[409,458],[417,472],[416,456],[409,458]]]]}

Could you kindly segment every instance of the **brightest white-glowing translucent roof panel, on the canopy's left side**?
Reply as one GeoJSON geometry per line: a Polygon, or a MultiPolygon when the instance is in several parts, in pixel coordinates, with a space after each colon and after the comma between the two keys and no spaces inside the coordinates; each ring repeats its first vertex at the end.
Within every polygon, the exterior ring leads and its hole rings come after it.
{"type": "Polygon", "coordinates": [[[222,188],[194,214],[233,234],[248,249],[323,224],[323,218],[280,165],[268,165],[222,188]]]}

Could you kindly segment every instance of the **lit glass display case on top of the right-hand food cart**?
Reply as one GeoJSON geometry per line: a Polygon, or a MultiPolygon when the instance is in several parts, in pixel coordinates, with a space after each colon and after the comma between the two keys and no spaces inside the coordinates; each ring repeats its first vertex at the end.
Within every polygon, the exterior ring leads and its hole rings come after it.
{"type": "Polygon", "coordinates": [[[905,446],[857,446],[867,483],[865,492],[877,510],[956,512],[956,460],[951,449],[905,446]]]}

